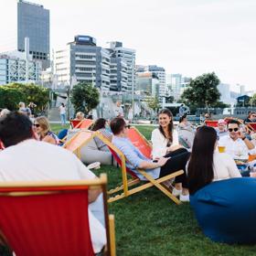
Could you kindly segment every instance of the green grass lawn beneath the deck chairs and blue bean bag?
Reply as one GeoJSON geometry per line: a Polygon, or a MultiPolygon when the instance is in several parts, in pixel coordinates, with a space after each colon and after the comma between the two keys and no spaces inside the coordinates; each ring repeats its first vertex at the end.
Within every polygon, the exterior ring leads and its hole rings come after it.
{"type": "MultiPolygon", "coordinates": [[[[54,132],[63,128],[59,124],[51,127],[54,132]]],[[[137,128],[150,139],[155,127],[137,128]]],[[[109,188],[121,183],[119,168],[101,166],[95,171],[97,176],[100,173],[107,173],[109,188]]],[[[176,206],[156,188],[113,202],[109,211],[115,216],[116,247],[120,256],[256,255],[256,246],[229,246],[208,240],[198,228],[189,204],[176,206]]],[[[0,250],[0,255],[5,253],[0,250]]]]}

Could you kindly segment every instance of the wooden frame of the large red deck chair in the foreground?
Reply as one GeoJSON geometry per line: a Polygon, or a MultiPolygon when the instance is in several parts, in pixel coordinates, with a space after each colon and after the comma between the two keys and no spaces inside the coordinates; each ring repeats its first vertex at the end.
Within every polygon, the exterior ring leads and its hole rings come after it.
{"type": "MultiPolygon", "coordinates": [[[[0,182],[0,197],[33,197],[40,195],[49,195],[62,193],[65,191],[81,190],[81,189],[95,189],[101,188],[104,203],[104,217],[107,244],[104,248],[104,255],[115,256],[115,232],[114,232],[114,217],[108,215],[107,206],[107,176],[101,174],[100,178],[93,180],[69,180],[69,181],[27,181],[27,182],[0,182]]],[[[64,193],[63,193],[64,192],[64,193]]],[[[22,236],[22,234],[21,234],[22,236]]],[[[0,230],[0,239],[8,245],[5,234],[0,230]]],[[[11,248],[10,248],[11,249],[11,248]]]]}

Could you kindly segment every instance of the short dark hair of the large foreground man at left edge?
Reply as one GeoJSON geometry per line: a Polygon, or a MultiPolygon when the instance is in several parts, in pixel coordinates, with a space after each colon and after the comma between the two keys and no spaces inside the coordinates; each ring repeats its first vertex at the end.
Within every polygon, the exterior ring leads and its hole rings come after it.
{"type": "Polygon", "coordinates": [[[18,144],[33,137],[32,123],[27,115],[10,112],[0,119],[0,140],[5,147],[18,144]]]}

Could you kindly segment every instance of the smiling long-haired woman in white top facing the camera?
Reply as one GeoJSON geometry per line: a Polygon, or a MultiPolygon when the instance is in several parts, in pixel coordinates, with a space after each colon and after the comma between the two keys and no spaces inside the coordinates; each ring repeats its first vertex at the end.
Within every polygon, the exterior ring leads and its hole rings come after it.
{"type": "MultiPolygon", "coordinates": [[[[167,109],[160,111],[158,114],[158,122],[159,127],[156,128],[151,135],[153,160],[157,160],[162,156],[172,157],[173,165],[178,166],[178,169],[183,169],[186,173],[186,164],[189,154],[187,153],[187,149],[178,144],[178,134],[174,129],[172,112],[167,109]]],[[[165,185],[169,186],[169,184],[165,185]]],[[[179,196],[182,201],[189,200],[187,182],[181,182],[179,176],[176,177],[176,185],[173,189],[173,194],[179,196]]]]}

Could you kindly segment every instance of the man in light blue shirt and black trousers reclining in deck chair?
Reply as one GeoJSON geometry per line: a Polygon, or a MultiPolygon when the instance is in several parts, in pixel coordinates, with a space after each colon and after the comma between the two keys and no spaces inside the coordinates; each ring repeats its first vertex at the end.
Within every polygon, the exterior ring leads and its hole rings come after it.
{"type": "Polygon", "coordinates": [[[169,174],[172,174],[180,169],[184,170],[184,174],[176,177],[176,181],[182,184],[183,190],[180,195],[181,201],[188,201],[187,190],[187,176],[186,176],[186,164],[189,153],[185,150],[179,155],[165,155],[165,157],[159,157],[157,160],[152,161],[145,157],[127,138],[127,125],[123,118],[117,117],[111,122],[111,129],[113,133],[112,144],[119,148],[123,155],[126,157],[126,166],[130,168],[136,176],[144,180],[137,168],[144,169],[147,174],[157,179],[169,174]]]}

